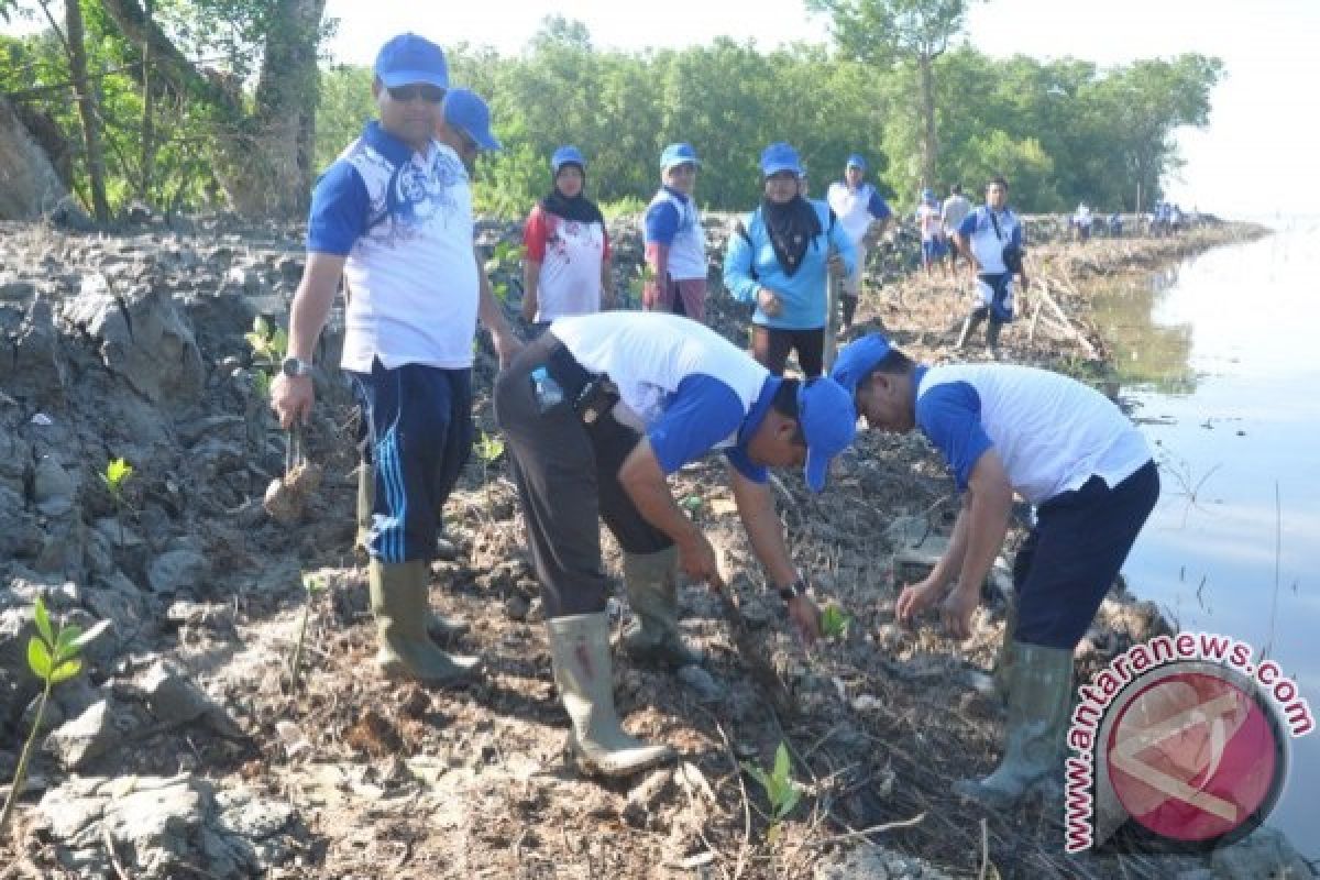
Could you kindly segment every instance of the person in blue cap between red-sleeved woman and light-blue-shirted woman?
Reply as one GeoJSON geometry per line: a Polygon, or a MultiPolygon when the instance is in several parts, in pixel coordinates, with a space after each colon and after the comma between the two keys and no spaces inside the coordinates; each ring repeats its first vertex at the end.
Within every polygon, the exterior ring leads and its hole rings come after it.
{"type": "Polygon", "coordinates": [[[642,292],[647,311],[706,319],[706,230],[693,191],[701,161],[692,144],[669,144],[660,154],[663,186],[644,220],[645,261],[652,273],[642,292]]]}

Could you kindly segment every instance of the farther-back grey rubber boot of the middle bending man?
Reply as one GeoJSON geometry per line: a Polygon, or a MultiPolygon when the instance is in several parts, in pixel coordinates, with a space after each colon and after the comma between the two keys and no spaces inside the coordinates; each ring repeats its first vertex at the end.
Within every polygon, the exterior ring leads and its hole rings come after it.
{"type": "Polygon", "coordinates": [[[678,549],[624,553],[623,586],[632,623],[623,632],[623,650],[636,664],[678,669],[701,662],[701,654],[678,635],[678,549]]]}

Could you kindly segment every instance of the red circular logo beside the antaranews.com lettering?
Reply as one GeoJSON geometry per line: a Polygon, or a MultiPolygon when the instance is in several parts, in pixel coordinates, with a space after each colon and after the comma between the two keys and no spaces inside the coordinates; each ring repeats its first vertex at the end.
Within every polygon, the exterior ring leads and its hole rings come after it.
{"type": "Polygon", "coordinates": [[[1259,825],[1282,788],[1283,755],[1274,716],[1249,686],[1210,672],[1175,672],[1138,690],[1105,748],[1127,813],[1187,843],[1259,825]]]}

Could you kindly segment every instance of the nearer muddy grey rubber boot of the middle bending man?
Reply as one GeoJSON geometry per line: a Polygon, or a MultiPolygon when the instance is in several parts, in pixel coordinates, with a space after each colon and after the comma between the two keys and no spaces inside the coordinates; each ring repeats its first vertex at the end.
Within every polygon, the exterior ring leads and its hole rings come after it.
{"type": "Polygon", "coordinates": [[[614,708],[610,615],[572,615],[545,621],[554,683],[568,710],[569,747],[585,773],[631,776],[675,757],[623,732],[614,708]]]}

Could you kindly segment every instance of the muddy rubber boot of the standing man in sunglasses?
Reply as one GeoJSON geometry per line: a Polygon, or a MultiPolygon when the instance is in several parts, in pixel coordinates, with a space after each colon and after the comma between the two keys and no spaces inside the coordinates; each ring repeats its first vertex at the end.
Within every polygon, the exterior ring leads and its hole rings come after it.
{"type": "Polygon", "coordinates": [[[387,677],[411,677],[432,685],[457,685],[477,677],[478,657],[447,654],[426,635],[425,562],[385,565],[372,559],[367,575],[380,643],[376,665],[387,677]]]}

